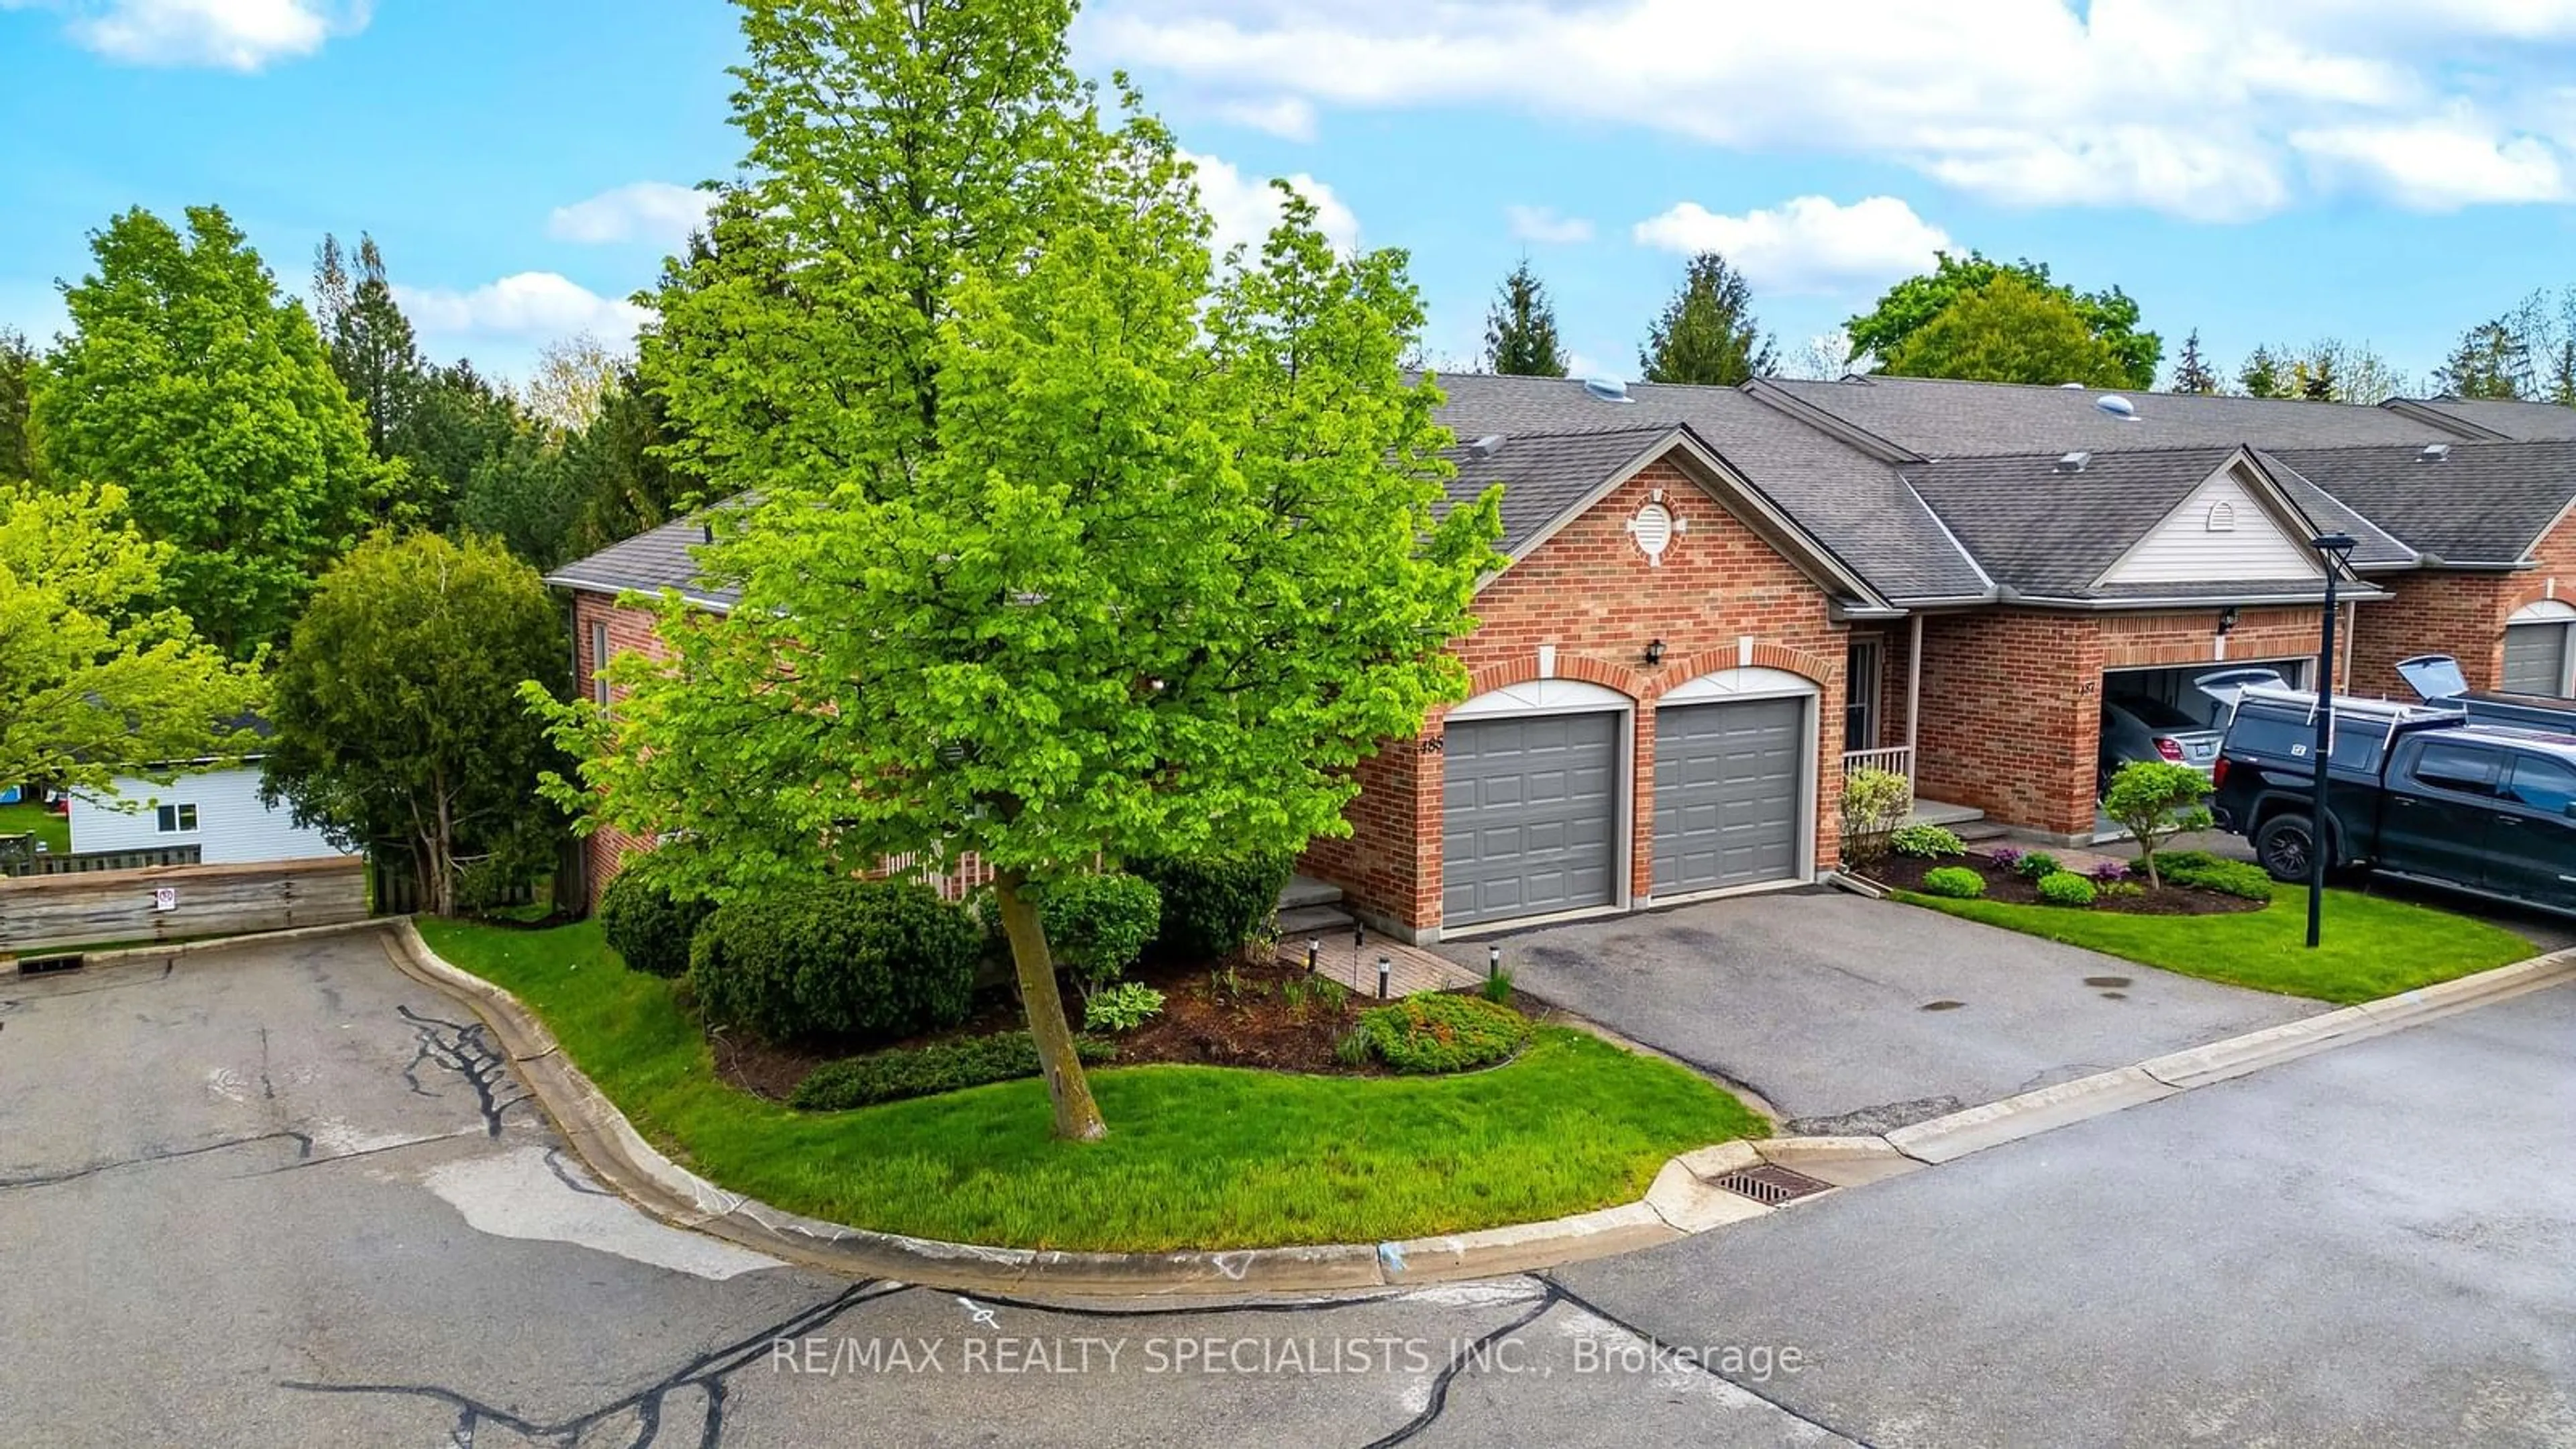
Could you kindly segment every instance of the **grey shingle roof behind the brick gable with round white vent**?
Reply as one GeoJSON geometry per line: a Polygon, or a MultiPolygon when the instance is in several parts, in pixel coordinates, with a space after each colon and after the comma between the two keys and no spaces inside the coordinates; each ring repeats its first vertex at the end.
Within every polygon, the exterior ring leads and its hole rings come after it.
{"type": "MultiPolygon", "coordinates": [[[[1631,402],[1605,402],[1582,382],[1553,376],[1440,376],[1448,402],[1440,420],[1461,441],[1502,433],[1504,449],[1479,482],[1502,480],[1507,529],[1512,490],[1577,500],[1607,477],[1577,487],[1546,474],[1533,456],[1515,459],[1515,436],[1569,438],[1577,433],[1633,436],[1638,428],[1690,428],[1718,456],[1788,511],[1844,565],[1896,603],[1973,598],[1986,593],[1976,565],[1942,536],[1940,523],[1914,498],[1893,467],[1844,446],[1785,413],[1731,387],[1631,384],[1631,402]]],[[[1628,454],[1636,456],[1633,451],[1628,454]]],[[[1571,459],[1569,459],[1571,462],[1571,459]]],[[[1589,459],[1582,459],[1589,467],[1589,459]]],[[[1628,462],[1628,459],[1620,459],[1628,462]]],[[[1615,467],[1615,464],[1613,464],[1615,467]]],[[[1466,477],[1461,477],[1466,485],[1466,477]]],[[[1510,547],[1504,549],[1510,552],[1510,547]]]]}

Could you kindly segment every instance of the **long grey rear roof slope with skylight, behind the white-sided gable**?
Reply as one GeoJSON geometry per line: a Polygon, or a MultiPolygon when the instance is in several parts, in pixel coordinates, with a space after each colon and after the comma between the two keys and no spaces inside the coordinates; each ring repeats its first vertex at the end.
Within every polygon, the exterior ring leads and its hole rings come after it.
{"type": "Polygon", "coordinates": [[[2465,428],[2450,431],[2388,407],[2352,402],[2120,392],[2138,407],[2138,418],[2123,423],[2094,405],[2107,392],[2097,387],[2014,387],[1927,376],[1765,379],[1762,387],[1780,389],[1927,459],[2239,443],[2257,449],[2424,446],[2468,436],[2465,428]]]}

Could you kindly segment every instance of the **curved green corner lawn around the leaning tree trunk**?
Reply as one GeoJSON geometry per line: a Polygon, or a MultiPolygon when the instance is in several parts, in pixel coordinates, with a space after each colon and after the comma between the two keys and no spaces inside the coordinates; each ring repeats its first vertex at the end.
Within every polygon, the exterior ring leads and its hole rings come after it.
{"type": "Polygon", "coordinates": [[[1664,1158],[1767,1129],[1705,1080],[1561,1026],[1458,1078],[1095,1070],[1110,1137],[1079,1147],[1048,1137],[1036,1080],[799,1114],[716,1080],[670,982],[621,967],[595,923],[420,931],[528,1003],[675,1160],[886,1232],[1064,1250],[1422,1238],[1633,1201],[1664,1158]]]}

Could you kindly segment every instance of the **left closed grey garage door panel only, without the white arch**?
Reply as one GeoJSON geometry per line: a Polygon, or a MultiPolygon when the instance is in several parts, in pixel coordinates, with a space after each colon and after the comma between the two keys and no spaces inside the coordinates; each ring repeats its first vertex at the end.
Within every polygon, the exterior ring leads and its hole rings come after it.
{"type": "Polygon", "coordinates": [[[1618,714],[1448,727],[1440,920],[1512,920],[1618,900],[1618,714]]]}

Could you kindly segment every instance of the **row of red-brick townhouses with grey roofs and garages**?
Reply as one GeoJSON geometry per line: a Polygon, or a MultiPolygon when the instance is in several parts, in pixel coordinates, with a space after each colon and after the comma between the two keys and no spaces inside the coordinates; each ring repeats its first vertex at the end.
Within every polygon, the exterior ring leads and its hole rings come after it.
{"type": "MultiPolygon", "coordinates": [[[[1744,389],[1450,376],[1455,495],[1504,554],[1455,645],[1471,696],[1360,768],[1303,869],[1414,941],[1811,882],[1855,766],[2027,833],[2099,828],[2105,701],[2316,652],[2318,531],[2347,663],[2455,652],[2566,691],[2568,410],[2344,407],[1917,379],[1744,389]]],[[[2512,407],[2512,405],[2506,405],[2512,407]]],[[[626,588],[698,578],[693,521],[559,570],[582,688],[652,650],[626,588]]],[[[605,882],[634,841],[592,841],[605,882]]]]}

